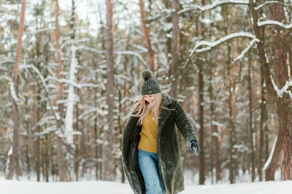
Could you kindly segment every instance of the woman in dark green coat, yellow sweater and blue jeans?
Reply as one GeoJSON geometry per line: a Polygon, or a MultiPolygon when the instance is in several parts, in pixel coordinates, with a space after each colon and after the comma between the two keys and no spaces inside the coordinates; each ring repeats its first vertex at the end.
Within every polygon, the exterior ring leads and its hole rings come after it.
{"type": "Polygon", "coordinates": [[[162,93],[152,72],[142,72],[141,95],[129,111],[122,161],[134,194],[177,194],[184,190],[178,134],[199,155],[197,136],[180,103],[162,93]]]}

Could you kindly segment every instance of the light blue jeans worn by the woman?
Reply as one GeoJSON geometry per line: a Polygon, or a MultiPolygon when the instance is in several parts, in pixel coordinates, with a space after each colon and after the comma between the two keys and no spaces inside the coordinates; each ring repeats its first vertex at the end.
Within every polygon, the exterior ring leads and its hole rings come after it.
{"type": "Polygon", "coordinates": [[[144,178],[146,194],[164,194],[157,154],[138,149],[138,164],[144,178]]]}

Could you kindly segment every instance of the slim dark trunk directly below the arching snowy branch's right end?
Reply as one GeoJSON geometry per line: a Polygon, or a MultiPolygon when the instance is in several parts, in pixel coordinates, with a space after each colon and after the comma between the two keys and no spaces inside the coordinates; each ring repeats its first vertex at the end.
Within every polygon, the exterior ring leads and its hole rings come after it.
{"type": "Polygon", "coordinates": [[[251,162],[252,162],[252,182],[256,179],[256,172],[255,172],[255,152],[254,152],[254,129],[253,129],[253,89],[252,89],[252,60],[251,56],[248,63],[248,90],[249,90],[249,113],[250,113],[250,119],[249,119],[249,128],[250,128],[250,144],[251,144],[251,162]]]}

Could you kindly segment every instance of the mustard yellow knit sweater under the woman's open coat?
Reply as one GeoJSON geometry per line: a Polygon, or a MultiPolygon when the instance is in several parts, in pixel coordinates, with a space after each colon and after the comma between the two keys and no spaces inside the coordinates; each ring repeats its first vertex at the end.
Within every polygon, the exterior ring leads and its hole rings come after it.
{"type": "Polygon", "coordinates": [[[150,111],[142,122],[141,139],[138,144],[138,149],[157,153],[157,131],[158,126],[152,117],[152,111],[150,111]]]}

